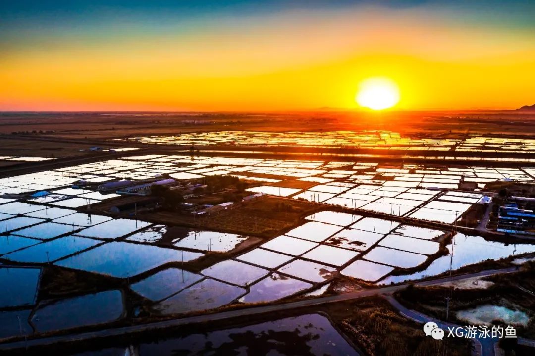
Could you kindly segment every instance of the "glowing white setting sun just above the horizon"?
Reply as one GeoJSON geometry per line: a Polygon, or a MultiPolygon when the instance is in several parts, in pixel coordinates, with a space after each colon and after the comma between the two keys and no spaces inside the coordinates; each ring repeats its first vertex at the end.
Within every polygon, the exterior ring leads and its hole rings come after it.
{"type": "Polygon", "coordinates": [[[385,110],[398,104],[400,90],[388,78],[369,78],[361,82],[355,97],[358,105],[371,110],[385,110]]]}

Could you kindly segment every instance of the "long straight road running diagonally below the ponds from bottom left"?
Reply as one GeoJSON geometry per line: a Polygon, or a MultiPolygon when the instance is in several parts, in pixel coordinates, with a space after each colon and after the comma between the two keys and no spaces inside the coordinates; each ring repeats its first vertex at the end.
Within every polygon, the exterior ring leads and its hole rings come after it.
{"type": "MultiPolygon", "coordinates": [[[[485,270],[485,271],[477,272],[477,273],[445,277],[445,278],[437,278],[435,280],[417,282],[417,283],[414,283],[414,285],[423,287],[423,286],[436,285],[436,284],[441,284],[441,283],[450,282],[450,281],[460,281],[460,280],[473,278],[473,277],[484,277],[484,276],[490,276],[494,274],[511,273],[511,272],[514,272],[515,270],[516,270],[516,267],[485,270]]],[[[21,340],[21,341],[16,341],[16,342],[0,343],[0,351],[24,349],[26,347],[47,346],[47,345],[60,344],[60,343],[70,343],[70,342],[77,342],[81,340],[91,340],[91,339],[97,339],[97,338],[108,338],[108,337],[120,336],[120,335],[125,335],[125,334],[137,334],[140,332],[179,327],[179,326],[185,326],[185,325],[196,324],[196,323],[213,322],[213,321],[228,320],[228,319],[234,319],[234,318],[247,318],[247,316],[251,316],[251,315],[260,315],[260,314],[266,314],[266,313],[288,311],[288,310],[294,310],[296,308],[310,307],[310,306],[327,304],[327,303],[335,303],[338,301],[358,299],[358,298],[369,297],[369,296],[374,296],[374,295],[383,295],[383,294],[388,295],[397,290],[403,289],[405,287],[406,287],[406,284],[400,284],[400,285],[394,285],[394,286],[377,288],[377,289],[366,289],[366,290],[361,290],[361,291],[349,292],[349,293],[335,295],[335,296],[319,297],[319,298],[306,299],[306,300],[297,300],[297,301],[281,303],[281,304],[248,307],[248,308],[243,308],[243,309],[235,309],[235,310],[227,311],[227,312],[190,316],[187,318],[158,321],[158,322],[139,324],[139,325],[134,325],[134,326],[81,332],[79,334],[68,334],[68,335],[60,335],[60,336],[33,338],[33,339],[28,339],[27,341],[21,340]]]]}

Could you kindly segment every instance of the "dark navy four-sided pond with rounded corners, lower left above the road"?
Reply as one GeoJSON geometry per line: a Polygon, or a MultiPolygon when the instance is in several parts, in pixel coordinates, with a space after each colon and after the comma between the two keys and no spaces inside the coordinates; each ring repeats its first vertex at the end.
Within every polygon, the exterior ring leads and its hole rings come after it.
{"type": "Polygon", "coordinates": [[[32,317],[37,332],[112,322],[123,315],[123,293],[110,290],[80,297],[42,301],[32,317]]]}

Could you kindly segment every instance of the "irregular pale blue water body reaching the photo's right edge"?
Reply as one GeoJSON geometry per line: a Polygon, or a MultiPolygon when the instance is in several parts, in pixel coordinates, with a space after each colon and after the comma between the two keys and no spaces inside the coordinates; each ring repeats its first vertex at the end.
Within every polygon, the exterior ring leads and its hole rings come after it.
{"type": "MultiPolygon", "coordinates": [[[[448,250],[452,251],[452,244],[448,250]]],[[[468,236],[457,234],[455,236],[455,250],[453,256],[453,269],[476,264],[487,259],[498,260],[525,252],[534,252],[535,245],[509,244],[486,241],[481,236],[468,236]],[[516,247],[515,247],[516,246],[516,247]],[[516,248],[516,251],[515,251],[516,248]]],[[[379,284],[399,283],[403,281],[419,280],[420,278],[435,276],[449,270],[450,257],[442,256],[432,262],[425,270],[409,275],[389,276],[379,284]]]]}

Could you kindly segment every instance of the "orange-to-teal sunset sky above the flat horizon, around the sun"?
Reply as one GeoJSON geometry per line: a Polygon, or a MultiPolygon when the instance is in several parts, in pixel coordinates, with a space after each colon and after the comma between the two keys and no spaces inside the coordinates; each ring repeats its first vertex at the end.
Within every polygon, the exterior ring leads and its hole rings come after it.
{"type": "Polygon", "coordinates": [[[0,111],[355,109],[535,104],[531,0],[0,2],[0,111]]]}

